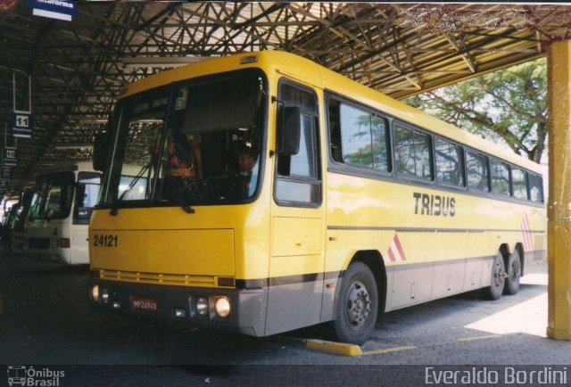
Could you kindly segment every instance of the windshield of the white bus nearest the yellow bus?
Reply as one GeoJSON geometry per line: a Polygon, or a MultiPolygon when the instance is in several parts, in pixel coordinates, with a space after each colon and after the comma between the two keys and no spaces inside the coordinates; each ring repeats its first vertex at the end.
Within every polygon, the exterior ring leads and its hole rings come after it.
{"type": "Polygon", "coordinates": [[[70,216],[75,176],[73,172],[53,173],[38,178],[29,219],[64,219],[70,216]]]}

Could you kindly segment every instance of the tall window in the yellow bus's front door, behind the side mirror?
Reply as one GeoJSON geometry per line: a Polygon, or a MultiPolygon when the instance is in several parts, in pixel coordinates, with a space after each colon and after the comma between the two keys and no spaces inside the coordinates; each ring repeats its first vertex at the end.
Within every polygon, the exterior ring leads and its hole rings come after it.
{"type": "Polygon", "coordinates": [[[314,207],[321,203],[318,109],[315,93],[283,81],[279,98],[285,106],[301,111],[300,147],[293,155],[277,156],[274,198],[280,205],[314,207]]]}

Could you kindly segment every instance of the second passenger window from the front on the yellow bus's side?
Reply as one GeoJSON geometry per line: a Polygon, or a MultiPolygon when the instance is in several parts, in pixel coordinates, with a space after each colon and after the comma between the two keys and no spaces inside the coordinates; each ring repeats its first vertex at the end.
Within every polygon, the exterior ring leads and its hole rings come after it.
{"type": "Polygon", "coordinates": [[[397,125],[394,130],[394,159],[399,174],[432,180],[430,136],[397,125]]]}

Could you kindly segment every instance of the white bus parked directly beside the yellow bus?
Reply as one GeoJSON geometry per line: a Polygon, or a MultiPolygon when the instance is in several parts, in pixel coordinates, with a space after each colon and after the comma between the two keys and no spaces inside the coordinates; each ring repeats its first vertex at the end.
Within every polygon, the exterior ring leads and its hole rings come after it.
{"type": "Polygon", "coordinates": [[[91,162],[62,164],[37,177],[27,219],[26,255],[68,264],[88,264],[87,226],[101,174],[91,162]]]}

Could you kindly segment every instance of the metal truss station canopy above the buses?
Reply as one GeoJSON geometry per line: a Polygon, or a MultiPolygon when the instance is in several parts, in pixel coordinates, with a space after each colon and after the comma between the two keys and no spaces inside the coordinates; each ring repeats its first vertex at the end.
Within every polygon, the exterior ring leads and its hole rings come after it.
{"type": "Polygon", "coordinates": [[[71,21],[0,3],[0,136],[9,190],[56,161],[90,160],[122,86],[204,57],[302,55],[402,99],[545,54],[571,37],[565,4],[79,2],[71,21]],[[15,79],[15,97],[12,79],[15,79]],[[33,135],[10,136],[14,100],[33,135]]]}

